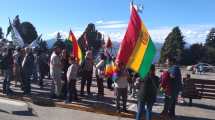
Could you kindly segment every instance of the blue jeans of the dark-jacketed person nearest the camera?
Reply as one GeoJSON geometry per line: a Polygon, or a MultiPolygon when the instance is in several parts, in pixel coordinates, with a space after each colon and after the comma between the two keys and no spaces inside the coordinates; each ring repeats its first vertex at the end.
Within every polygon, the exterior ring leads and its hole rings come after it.
{"type": "Polygon", "coordinates": [[[136,120],[141,120],[143,112],[145,113],[145,120],[151,120],[152,119],[152,106],[153,106],[153,104],[139,101],[137,104],[136,120]],[[146,105],[146,108],[145,108],[145,105],[146,105]]]}

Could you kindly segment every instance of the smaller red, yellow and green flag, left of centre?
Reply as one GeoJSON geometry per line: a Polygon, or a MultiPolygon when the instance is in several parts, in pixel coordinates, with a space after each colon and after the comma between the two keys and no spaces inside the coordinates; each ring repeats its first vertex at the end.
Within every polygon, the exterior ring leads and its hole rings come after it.
{"type": "Polygon", "coordinates": [[[82,60],[83,60],[83,53],[78,45],[78,42],[75,38],[75,35],[73,34],[73,32],[70,30],[69,32],[69,41],[71,41],[72,43],[72,55],[78,59],[78,63],[81,64],[82,60]]]}

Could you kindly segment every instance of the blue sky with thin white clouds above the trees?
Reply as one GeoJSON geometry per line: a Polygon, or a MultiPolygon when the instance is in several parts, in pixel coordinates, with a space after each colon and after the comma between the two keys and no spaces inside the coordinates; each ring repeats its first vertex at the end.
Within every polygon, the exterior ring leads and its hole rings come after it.
{"type": "MultiPolygon", "coordinates": [[[[6,33],[8,17],[19,14],[31,21],[44,39],[57,31],[78,37],[89,22],[115,41],[121,41],[129,20],[130,0],[1,0],[0,26],[6,33]]],[[[174,26],[180,26],[188,43],[204,42],[215,26],[215,0],[134,0],[143,3],[142,20],[156,42],[163,42],[174,26]]]]}

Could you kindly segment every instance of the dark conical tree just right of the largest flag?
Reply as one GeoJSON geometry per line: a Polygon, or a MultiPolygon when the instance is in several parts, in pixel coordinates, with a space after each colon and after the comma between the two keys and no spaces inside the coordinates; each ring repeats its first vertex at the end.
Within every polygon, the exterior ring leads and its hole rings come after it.
{"type": "Polygon", "coordinates": [[[164,63],[168,57],[174,57],[179,63],[182,63],[185,45],[183,38],[179,27],[174,27],[161,49],[160,63],[164,63]]]}

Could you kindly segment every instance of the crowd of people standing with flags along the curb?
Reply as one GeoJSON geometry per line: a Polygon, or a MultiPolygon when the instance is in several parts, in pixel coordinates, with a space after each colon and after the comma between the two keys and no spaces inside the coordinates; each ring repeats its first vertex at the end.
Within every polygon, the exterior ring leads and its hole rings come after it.
{"type": "Polygon", "coordinates": [[[98,97],[104,96],[104,79],[106,78],[107,87],[115,88],[117,112],[127,112],[128,94],[134,90],[134,84],[138,83],[136,120],[140,120],[144,112],[146,120],[152,119],[152,107],[156,102],[159,90],[165,94],[165,104],[161,116],[168,119],[175,118],[175,105],[182,89],[181,71],[176,64],[176,59],[168,58],[169,69],[162,71],[159,77],[156,75],[155,65],[151,65],[148,75],[143,79],[137,73],[128,70],[125,64],[116,63],[117,78],[111,80],[110,76],[104,75],[106,57],[105,53],[100,53],[98,62],[95,62],[92,51],[87,50],[85,58],[79,64],[78,58],[69,55],[66,49],[59,46],[54,46],[50,55],[42,51],[34,51],[30,47],[24,49],[16,47],[15,50],[5,48],[1,52],[1,69],[4,75],[3,93],[13,95],[10,82],[15,76],[15,85],[20,82],[23,94],[31,95],[31,81],[36,80],[38,85],[43,87],[43,80],[47,75],[52,80],[51,98],[64,99],[65,103],[78,101],[79,96],[83,96],[85,93],[88,96],[92,95],[92,77],[94,68],[96,68],[97,95],[98,97]],[[80,94],[76,89],[78,78],[81,78],[80,94]],[[86,92],[84,92],[85,86],[86,92]]]}

